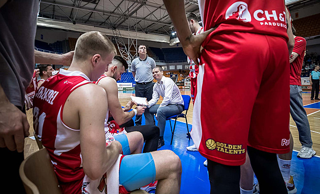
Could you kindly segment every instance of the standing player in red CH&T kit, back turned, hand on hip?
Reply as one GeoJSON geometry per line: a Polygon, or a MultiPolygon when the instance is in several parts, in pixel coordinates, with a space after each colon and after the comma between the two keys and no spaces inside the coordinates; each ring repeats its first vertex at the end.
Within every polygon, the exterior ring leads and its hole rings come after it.
{"type": "Polygon", "coordinates": [[[247,149],[261,193],[287,193],[276,157],[290,142],[293,42],[287,44],[284,2],[200,0],[205,32],[198,36],[188,28],[184,2],[164,2],[184,52],[200,58],[191,136],[208,158],[211,193],[240,192],[247,149]]]}

